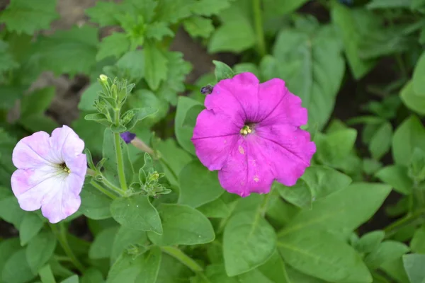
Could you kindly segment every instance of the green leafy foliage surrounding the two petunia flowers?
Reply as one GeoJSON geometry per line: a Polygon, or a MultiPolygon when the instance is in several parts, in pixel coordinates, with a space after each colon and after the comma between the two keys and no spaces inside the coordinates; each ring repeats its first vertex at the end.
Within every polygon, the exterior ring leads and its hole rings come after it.
{"type": "Polygon", "coordinates": [[[424,0],[96,1],[84,13],[52,29],[56,0],[0,11],[0,282],[425,282],[424,0]],[[181,34],[212,54],[207,68],[173,49],[181,34]],[[295,186],[243,199],[190,141],[200,87],[242,71],[284,79],[317,144],[295,186]],[[60,87],[40,86],[46,74],[83,81],[78,115],[52,112],[60,87]],[[79,212],[47,224],[18,207],[11,151],[68,123],[95,161],[113,156],[111,133],[84,120],[99,74],[135,83],[123,110],[157,110],[132,132],[161,157],[123,147],[171,193],[112,200],[87,182],[79,212]]]}

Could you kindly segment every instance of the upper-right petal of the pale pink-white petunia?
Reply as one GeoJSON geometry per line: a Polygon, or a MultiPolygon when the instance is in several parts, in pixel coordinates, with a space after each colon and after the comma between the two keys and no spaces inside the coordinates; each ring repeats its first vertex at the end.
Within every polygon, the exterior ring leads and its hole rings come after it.
{"type": "Polygon", "coordinates": [[[84,150],[84,141],[68,126],[54,129],[50,138],[52,152],[62,161],[73,158],[84,150]]]}

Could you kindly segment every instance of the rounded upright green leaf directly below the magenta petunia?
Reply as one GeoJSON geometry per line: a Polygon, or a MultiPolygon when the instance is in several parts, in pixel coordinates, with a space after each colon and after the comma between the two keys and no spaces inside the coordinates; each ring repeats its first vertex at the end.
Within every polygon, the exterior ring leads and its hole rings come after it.
{"type": "Polygon", "coordinates": [[[240,275],[262,265],[276,249],[273,227],[256,212],[239,212],[229,219],[223,234],[227,275],[240,275]]]}

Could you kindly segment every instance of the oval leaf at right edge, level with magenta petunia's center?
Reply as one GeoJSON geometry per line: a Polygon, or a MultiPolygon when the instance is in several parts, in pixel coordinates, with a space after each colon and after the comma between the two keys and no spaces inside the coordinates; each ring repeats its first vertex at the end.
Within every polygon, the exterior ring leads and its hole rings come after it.
{"type": "Polygon", "coordinates": [[[392,157],[397,165],[408,166],[415,147],[425,150],[425,128],[414,115],[399,125],[392,137],[392,157]]]}

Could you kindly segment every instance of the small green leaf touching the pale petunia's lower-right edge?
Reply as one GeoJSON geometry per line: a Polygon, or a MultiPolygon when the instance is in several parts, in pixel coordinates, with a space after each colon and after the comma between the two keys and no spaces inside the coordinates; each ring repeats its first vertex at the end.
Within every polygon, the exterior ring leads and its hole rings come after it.
{"type": "Polygon", "coordinates": [[[91,219],[107,219],[111,217],[112,200],[91,184],[85,184],[81,190],[81,206],[79,212],[91,219]]]}

